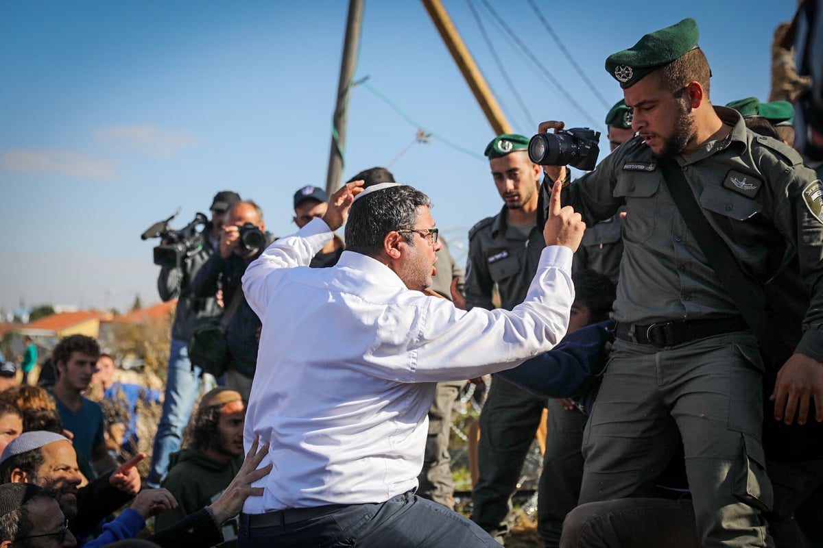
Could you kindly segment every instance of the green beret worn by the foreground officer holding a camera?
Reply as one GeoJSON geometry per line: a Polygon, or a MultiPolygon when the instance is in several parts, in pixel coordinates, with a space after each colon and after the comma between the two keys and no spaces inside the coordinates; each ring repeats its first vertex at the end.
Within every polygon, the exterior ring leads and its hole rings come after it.
{"type": "Polygon", "coordinates": [[[690,17],[645,35],[629,49],[612,53],[606,59],[606,71],[620,82],[621,88],[635,85],[659,67],[681,58],[697,47],[700,32],[690,17]]]}

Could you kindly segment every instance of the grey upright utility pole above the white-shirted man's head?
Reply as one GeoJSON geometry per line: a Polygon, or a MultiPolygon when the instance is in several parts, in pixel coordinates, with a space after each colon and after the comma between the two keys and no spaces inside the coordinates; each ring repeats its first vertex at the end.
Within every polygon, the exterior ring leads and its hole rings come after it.
{"type": "Polygon", "coordinates": [[[348,122],[349,91],[355,76],[357,48],[360,44],[360,25],[363,22],[365,0],[349,0],[349,16],[346,20],[346,38],[343,39],[343,58],[340,63],[340,81],[337,84],[337,104],[334,107],[332,150],[328,154],[326,194],[332,195],[340,187],[343,171],[343,153],[346,150],[346,123],[348,122]]]}

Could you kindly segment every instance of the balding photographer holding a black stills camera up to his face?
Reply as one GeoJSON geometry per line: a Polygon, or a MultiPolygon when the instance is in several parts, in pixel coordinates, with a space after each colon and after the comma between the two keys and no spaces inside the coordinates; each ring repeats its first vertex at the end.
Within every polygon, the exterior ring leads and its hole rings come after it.
{"type": "Polygon", "coordinates": [[[223,306],[230,314],[226,325],[230,359],[225,385],[246,401],[257,364],[262,324],[246,302],[240,279],[246,266],[274,239],[266,232],[263,210],[251,200],[238,202],[226,214],[220,244],[192,282],[192,292],[198,297],[214,296],[218,289],[223,292],[223,306]]]}

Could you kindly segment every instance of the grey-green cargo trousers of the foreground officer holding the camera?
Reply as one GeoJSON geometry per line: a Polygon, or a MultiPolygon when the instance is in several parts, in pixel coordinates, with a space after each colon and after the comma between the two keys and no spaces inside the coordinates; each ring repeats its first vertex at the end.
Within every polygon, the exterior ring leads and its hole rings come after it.
{"type": "Polygon", "coordinates": [[[580,504],[653,496],[679,431],[700,546],[774,546],[762,371],[747,333],[663,350],[617,340],[584,434],[580,504]]]}

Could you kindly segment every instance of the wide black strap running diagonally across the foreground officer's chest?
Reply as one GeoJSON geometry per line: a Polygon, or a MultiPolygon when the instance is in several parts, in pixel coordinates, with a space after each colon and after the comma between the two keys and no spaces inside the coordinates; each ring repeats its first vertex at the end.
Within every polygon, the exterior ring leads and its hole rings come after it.
{"type": "Polygon", "coordinates": [[[770,316],[763,286],[743,272],[726,242],[709,224],[677,161],[662,158],[658,165],[686,226],[757,337],[760,350],[769,359],[770,365],[782,366],[792,351],[780,338],[779,329],[770,316]]]}

